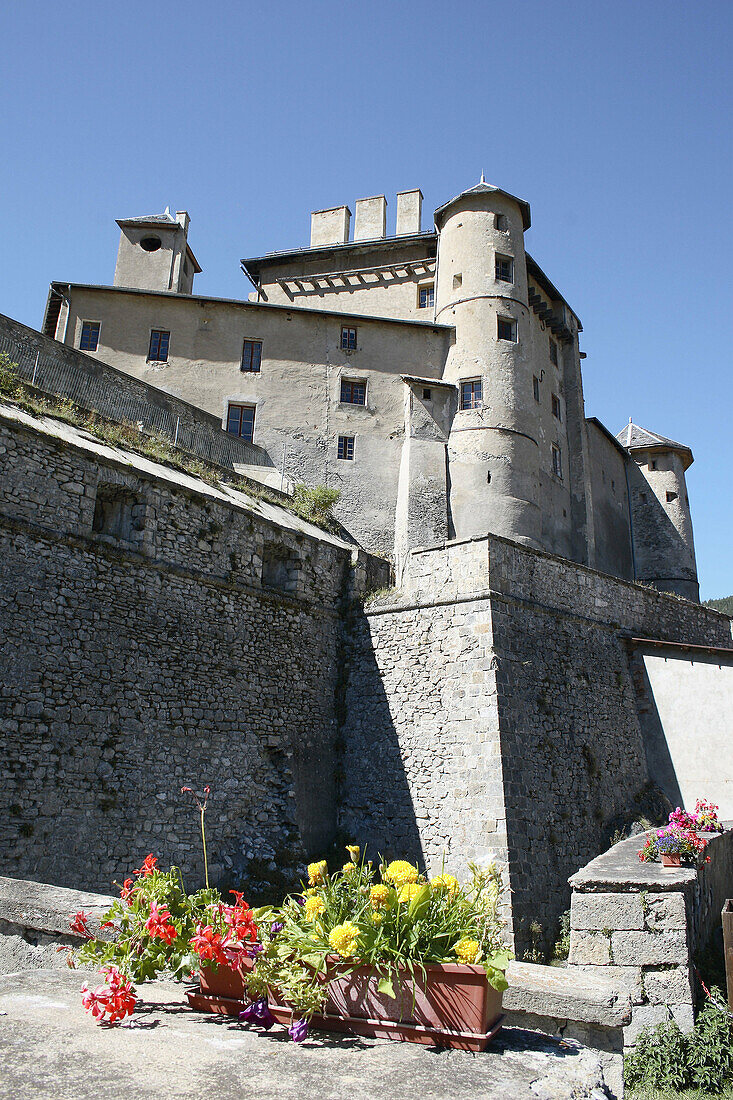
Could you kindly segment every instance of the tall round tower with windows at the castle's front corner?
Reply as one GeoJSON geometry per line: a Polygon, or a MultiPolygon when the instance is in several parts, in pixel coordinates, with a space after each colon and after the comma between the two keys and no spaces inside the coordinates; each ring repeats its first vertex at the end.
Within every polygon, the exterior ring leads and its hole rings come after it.
{"type": "Polygon", "coordinates": [[[448,442],[456,538],[540,546],[539,448],[524,231],[529,206],[483,180],[436,210],[436,320],[456,326],[448,442]]]}

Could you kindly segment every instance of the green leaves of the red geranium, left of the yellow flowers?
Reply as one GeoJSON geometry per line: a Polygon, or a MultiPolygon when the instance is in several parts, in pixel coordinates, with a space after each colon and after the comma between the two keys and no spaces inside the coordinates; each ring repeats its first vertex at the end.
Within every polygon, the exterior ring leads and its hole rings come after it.
{"type": "Polygon", "coordinates": [[[113,925],[114,939],[88,939],[74,952],[70,965],[117,966],[133,982],[150,981],[164,970],[176,978],[196,972],[199,959],[190,939],[198,924],[210,924],[211,911],[221,902],[218,891],[199,890],[188,895],[179,869],[172,867],[169,871],[154,869],[134,883],[128,879],[122,895],[102,919],[113,925]],[[171,913],[177,934],[169,944],[145,928],[152,903],[171,913]]]}

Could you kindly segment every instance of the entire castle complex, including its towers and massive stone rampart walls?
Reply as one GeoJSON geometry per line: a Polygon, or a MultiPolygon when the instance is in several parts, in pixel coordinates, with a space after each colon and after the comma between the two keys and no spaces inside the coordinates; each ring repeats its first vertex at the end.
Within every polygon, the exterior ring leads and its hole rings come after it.
{"type": "Polygon", "coordinates": [[[43,333],[0,317],[36,387],[165,413],[176,446],[205,426],[249,479],[0,407],[9,873],[106,889],[154,850],[194,875],[177,791],[210,783],[215,879],[282,889],[339,836],[495,857],[523,945],[641,813],[733,814],[690,450],[586,418],[526,202],[482,182],[423,231],[420,201],[390,238],[382,196],[353,240],[317,211],[310,248],[242,261],[247,301],[194,294],[185,212],[122,220],[113,286],[54,282],[43,333]],[[341,491],[342,535],[285,507],[300,481],[341,491]]]}

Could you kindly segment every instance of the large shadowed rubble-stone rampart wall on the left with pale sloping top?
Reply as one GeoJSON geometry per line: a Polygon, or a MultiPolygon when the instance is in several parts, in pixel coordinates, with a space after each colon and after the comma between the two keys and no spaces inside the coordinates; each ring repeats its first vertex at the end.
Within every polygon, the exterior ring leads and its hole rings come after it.
{"type": "Polygon", "coordinates": [[[196,886],[180,787],[208,783],[212,878],[277,884],[333,833],[349,550],[77,443],[0,419],[3,872],[109,889],[153,851],[196,886]],[[120,494],[127,527],[95,530],[120,494]]]}

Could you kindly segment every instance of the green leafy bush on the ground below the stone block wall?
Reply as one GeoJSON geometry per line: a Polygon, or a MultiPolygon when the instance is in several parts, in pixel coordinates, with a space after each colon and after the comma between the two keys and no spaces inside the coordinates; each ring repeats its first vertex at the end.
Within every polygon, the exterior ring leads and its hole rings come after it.
{"type": "Polygon", "coordinates": [[[674,1021],[646,1027],[624,1059],[631,1089],[700,1089],[716,1096],[733,1086],[731,1016],[719,990],[713,990],[686,1035],[674,1021]]]}

